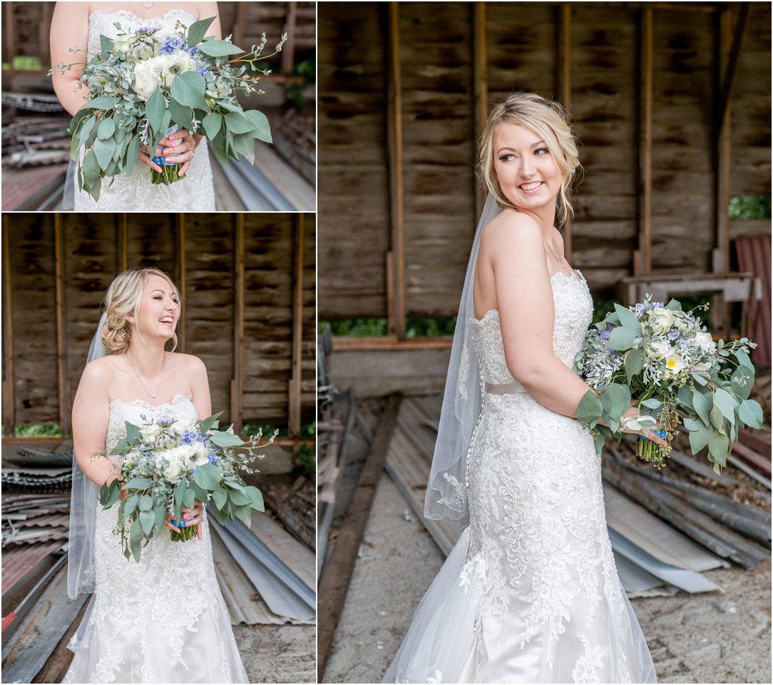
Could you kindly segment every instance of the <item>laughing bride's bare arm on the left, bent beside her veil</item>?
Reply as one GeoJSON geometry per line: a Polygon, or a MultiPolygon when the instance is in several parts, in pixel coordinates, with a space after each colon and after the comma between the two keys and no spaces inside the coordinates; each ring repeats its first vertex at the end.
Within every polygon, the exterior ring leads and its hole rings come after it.
{"type": "Polygon", "coordinates": [[[109,458],[92,458],[105,447],[110,416],[109,361],[94,360],[83,369],[73,401],[73,447],[78,465],[97,486],[112,482],[120,471],[109,458]]]}

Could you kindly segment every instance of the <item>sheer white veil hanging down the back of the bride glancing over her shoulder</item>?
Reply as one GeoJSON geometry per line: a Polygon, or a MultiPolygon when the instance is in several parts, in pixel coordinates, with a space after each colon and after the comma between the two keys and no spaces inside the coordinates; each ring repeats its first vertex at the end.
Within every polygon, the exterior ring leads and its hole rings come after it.
{"type": "Polygon", "coordinates": [[[465,527],[467,509],[468,448],[480,414],[480,370],[478,356],[472,344],[471,319],[475,318],[472,299],[475,282],[475,262],[478,258],[483,227],[502,210],[492,196],[488,196],[475,230],[470,260],[461,291],[459,313],[456,318],[451,361],[445,380],[443,408],[435,442],[424,516],[428,519],[455,521],[465,527]]]}

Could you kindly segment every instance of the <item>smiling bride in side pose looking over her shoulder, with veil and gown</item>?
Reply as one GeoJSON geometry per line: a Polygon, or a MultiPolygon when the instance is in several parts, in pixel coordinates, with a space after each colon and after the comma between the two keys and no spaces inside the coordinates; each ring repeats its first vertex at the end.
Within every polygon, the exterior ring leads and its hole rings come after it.
{"type": "Polygon", "coordinates": [[[579,164],[560,104],[516,93],[492,107],[479,165],[489,199],[425,500],[426,516],[468,527],[384,682],[655,681],[615,570],[601,458],[576,418],[588,386],[571,367],[593,304],[555,226],[579,164]]]}

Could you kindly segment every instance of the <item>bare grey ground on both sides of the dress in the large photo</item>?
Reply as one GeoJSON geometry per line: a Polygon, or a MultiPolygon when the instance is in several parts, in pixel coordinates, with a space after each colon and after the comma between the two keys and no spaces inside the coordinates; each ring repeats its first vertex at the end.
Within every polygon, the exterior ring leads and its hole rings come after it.
{"type": "MultiPolygon", "coordinates": [[[[380,683],[444,557],[387,475],[376,489],[325,683],[380,683]]],[[[708,571],[723,592],[632,601],[662,683],[771,682],[771,562],[708,571]]]]}

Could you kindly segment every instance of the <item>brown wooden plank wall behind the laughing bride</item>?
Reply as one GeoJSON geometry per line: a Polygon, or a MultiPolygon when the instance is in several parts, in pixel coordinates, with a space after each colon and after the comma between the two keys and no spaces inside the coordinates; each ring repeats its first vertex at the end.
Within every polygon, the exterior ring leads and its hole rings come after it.
{"type": "Polygon", "coordinates": [[[288,425],[294,336],[300,336],[301,414],[315,416],[315,218],[313,214],[6,214],[3,217],[3,424],[70,424],[100,302],[125,266],[156,266],[182,290],[179,351],[209,371],[212,404],[238,423],[288,425]],[[240,294],[234,264],[241,222],[243,368],[232,397],[240,294]],[[303,230],[303,257],[295,254],[303,230]],[[57,240],[59,249],[57,249],[57,240]],[[57,259],[56,255],[59,254],[57,259]],[[301,273],[300,316],[295,308],[301,273]],[[184,271],[183,271],[184,269],[184,271]],[[60,274],[60,306],[56,306],[60,274]],[[60,319],[60,326],[56,325],[60,319]],[[298,319],[294,325],[294,319],[298,319]],[[60,335],[60,360],[57,336],[60,335]],[[11,355],[7,349],[12,349],[11,355]],[[60,393],[63,402],[60,402],[60,393]],[[237,407],[234,417],[231,407],[237,407]]]}

